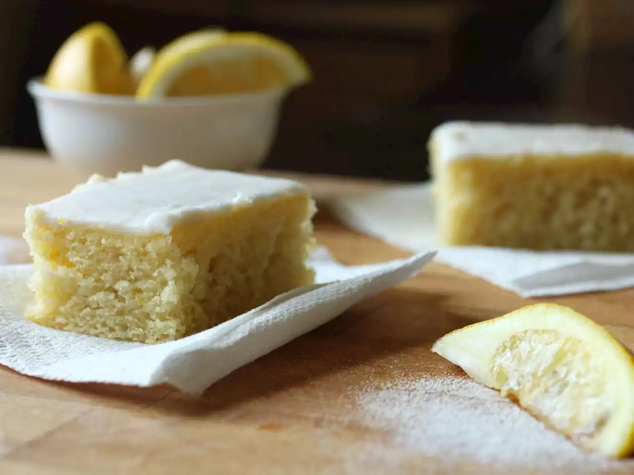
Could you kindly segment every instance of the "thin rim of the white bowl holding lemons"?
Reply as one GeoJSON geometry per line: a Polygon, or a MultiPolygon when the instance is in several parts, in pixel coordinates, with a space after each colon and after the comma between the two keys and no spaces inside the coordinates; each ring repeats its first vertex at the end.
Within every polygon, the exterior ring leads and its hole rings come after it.
{"type": "Polygon", "coordinates": [[[138,108],[160,108],[160,107],[204,107],[216,105],[218,103],[253,101],[254,99],[280,99],[283,98],[292,87],[272,89],[261,92],[241,92],[240,94],[217,94],[214,96],[197,96],[189,98],[161,98],[147,99],[139,101],[134,96],[116,96],[114,94],[94,94],[87,92],[61,91],[53,89],[42,83],[42,77],[37,76],[27,81],[27,91],[36,99],[56,99],[58,101],[68,101],[73,103],[129,106],[138,108]]]}

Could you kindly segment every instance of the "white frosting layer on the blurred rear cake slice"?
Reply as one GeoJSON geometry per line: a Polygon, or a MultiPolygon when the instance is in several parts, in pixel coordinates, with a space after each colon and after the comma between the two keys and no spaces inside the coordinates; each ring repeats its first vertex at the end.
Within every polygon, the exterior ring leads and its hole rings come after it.
{"type": "Polygon", "coordinates": [[[432,131],[430,139],[440,163],[477,156],[634,155],[634,132],[622,127],[446,122],[432,131]]]}

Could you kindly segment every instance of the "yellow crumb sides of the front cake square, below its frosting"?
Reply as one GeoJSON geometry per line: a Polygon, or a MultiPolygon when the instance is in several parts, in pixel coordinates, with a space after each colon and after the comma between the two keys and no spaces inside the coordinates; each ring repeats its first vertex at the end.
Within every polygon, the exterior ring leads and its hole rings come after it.
{"type": "Polygon", "coordinates": [[[27,318],[103,338],[161,343],[209,329],[311,284],[307,193],[192,213],[149,235],[52,223],[27,210],[34,258],[27,318]]]}

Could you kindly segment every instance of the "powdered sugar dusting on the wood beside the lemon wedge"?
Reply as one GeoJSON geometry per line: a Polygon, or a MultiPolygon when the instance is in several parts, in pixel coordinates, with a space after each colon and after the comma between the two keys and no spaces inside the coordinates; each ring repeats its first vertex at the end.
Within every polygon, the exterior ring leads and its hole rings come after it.
{"type": "Polygon", "coordinates": [[[364,390],[358,419],[417,455],[500,469],[597,472],[633,468],[589,455],[497,393],[458,377],[403,378],[364,390]]]}

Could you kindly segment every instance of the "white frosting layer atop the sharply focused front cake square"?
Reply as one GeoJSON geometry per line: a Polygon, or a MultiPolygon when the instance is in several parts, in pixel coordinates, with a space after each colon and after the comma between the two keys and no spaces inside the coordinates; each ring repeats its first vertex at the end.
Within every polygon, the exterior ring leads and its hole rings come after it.
{"type": "Polygon", "coordinates": [[[46,222],[124,231],[169,233],[180,220],[200,213],[223,213],[283,195],[308,193],[294,181],[220,170],[205,170],[179,160],[142,172],[94,176],[65,195],[30,205],[27,215],[43,212],[46,222]]]}

